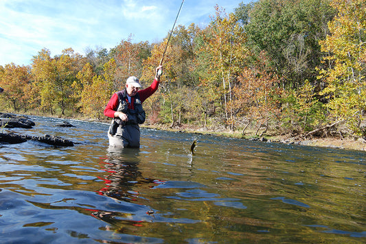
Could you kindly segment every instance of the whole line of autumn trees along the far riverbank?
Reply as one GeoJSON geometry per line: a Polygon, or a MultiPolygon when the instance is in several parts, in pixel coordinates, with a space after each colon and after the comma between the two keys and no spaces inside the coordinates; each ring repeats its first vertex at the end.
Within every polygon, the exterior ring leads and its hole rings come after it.
{"type": "MultiPolygon", "coordinates": [[[[103,119],[128,76],[150,85],[166,42],[128,37],[86,56],[45,48],[29,66],[0,66],[0,110],[103,119]]],[[[364,0],[260,0],[229,14],[216,6],[207,27],[174,29],[163,66],[144,102],[150,124],[366,135],[364,0]]]]}

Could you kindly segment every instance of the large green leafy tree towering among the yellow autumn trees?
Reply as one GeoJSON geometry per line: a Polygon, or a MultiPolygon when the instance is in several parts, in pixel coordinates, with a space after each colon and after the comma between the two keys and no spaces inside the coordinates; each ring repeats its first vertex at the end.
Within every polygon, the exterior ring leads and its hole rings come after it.
{"type": "Polygon", "coordinates": [[[319,41],[328,34],[327,23],[335,12],[330,0],[260,0],[240,5],[236,13],[242,22],[253,52],[268,55],[268,69],[283,79],[284,87],[298,88],[309,80],[314,84],[323,58],[319,41]]]}

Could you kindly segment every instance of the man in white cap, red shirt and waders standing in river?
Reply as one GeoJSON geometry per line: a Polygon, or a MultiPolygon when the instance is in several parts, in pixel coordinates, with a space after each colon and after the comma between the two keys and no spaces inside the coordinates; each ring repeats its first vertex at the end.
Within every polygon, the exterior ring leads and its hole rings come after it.
{"type": "Polygon", "coordinates": [[[104,109],[104,115],[113,118],[108,130],[110,146],[139,148],[139,124],[145,122],[142,102],[157,91],[162,67],[156,68],[155,79],[146,89],[140,90],[141,84],[135,76],[126,80],[126,89],[113,94],[104,109]]]}

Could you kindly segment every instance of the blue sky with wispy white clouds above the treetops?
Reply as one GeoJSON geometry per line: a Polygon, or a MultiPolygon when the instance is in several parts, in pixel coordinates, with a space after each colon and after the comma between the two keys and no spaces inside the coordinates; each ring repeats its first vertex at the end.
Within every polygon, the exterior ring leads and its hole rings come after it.
{"type": "MultiPolygon", "coordinates": [[[[251,0],[185,0],[176,25],[205,27],[218,4],[233,12],[251,0]]],[[[172,29],[181,0],[0,0],[0,65],[29,65],[46,47],[51,55],[72,47],[110,49],[161,41],[172,29]]]]}

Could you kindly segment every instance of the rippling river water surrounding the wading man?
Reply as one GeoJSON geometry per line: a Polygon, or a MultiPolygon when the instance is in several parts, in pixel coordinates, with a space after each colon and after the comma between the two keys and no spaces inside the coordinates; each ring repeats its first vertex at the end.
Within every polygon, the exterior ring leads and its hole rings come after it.
{"type": "Polygon", "coordinates": [[[30,117],[0,144],[1,243],[365,243],[366,153],[30,117]],[[190,145],[197,140],[195,153],[190,145]]]}

